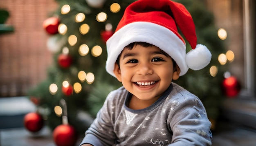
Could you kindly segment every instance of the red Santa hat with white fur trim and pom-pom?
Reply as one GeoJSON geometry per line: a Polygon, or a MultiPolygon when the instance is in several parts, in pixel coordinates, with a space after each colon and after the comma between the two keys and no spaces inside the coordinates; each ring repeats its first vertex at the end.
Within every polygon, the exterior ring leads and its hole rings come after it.
{"type": "Polygon", "coordinates": [[[106,71],[110,75],[115,77],[117,57],[132,42],[147,42],[168,53],[180,67],[180,75],[188,69],[200,70],[211,60],[207,47],[197,44],[195,24],[189,11],[171,0],[138,0],[126,8],[114,35],[106,43],[106,71]],[[177,27],[192,48],[188,53],[177,27]]]}

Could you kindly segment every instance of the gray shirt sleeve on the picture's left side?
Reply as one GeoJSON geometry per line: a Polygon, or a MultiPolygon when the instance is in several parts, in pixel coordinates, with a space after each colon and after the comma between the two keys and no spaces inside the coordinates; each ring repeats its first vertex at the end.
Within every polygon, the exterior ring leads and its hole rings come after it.
{"type": "Polygon", "coordinates": [[[94,146],[110,146],[115,144],[116,135],[113,132],[113,122],[111,117],[111,100],[113,92],[106,98],[102,108],[97,113],[97,117],[85,132],[82,144],[92,144],[94,146]]]}

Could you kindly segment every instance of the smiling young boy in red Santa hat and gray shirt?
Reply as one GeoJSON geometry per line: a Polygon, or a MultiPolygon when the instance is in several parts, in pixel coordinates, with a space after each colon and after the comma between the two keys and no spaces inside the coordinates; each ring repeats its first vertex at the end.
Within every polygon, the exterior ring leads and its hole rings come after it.
{"type": "Polygon", "coordinates": [[[182,4],[130,4],[107,42],[106,70],[123,86],[108,95],[81,146],[210,146],[202,102],[172,82],[209,64],[210,51],[196,41],[182,4]],[[187,54],[176,25],[191,45],[187,54]]]}

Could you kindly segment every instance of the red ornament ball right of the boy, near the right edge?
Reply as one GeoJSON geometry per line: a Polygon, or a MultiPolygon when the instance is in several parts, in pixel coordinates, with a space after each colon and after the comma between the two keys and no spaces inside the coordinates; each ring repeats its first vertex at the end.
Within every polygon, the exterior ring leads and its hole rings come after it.
{"type": "Polygon", "coordinates": [[[228,97],[235,97],[240,92],[240,83],[236,77],[231,76],[223,80],[223,91],[228,97]]]}

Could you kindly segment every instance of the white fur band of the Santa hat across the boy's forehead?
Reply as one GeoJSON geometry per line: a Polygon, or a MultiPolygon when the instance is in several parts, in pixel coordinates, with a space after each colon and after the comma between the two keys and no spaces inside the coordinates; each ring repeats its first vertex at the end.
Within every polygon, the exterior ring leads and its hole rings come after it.
{"type": "Polygon", "coordinates": [[[132,42],[147,42],[168,53],[180,67],[180,75],[188,71],[185,62],[186,46],[173,31],[151,22],[133,22],[119,29],[107,41],[106,71],[115,77],[114,66],[118,55],[132,42]]]}

